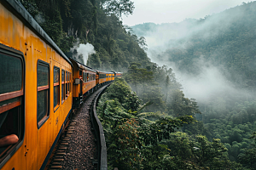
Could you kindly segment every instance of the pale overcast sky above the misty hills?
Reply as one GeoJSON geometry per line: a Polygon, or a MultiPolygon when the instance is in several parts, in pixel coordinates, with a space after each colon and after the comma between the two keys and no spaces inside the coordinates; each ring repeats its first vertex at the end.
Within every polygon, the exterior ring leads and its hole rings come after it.
{"type": "MultiPolygon", "coordinates": [[[[172,23],[186,18],[200,19],[241,5],[243,0],[131,0],[132,15],[123,16],[124,25],[135,26],[146,22],[172,23]]],[[[250,1],[251,2],[251,1],[250,1]]]]}

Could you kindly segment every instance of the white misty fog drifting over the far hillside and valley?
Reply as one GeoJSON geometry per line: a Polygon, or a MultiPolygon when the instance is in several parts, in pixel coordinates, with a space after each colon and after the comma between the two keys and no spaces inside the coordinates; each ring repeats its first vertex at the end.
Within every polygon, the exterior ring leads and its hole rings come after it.
{"type": "MultiPolygon", "coordinates": [[[[206,16],[201,20],[186,19],[181,23],[155,25],[144,23],[133,26],[137,37],[145,37],[148,44],[148,57],[158,65],[167,65],[173,69],[178,82],[183,86],[185,97],[195,98],[199,104],[206,103],[212,96],[218,94],[232,94],[235,96],[247,96],[250,94],[244,88],[237,88],[227,75],[231,74],[222,63],[216,63],[215,58],[222,58],[224,54],[212,50],[204,54],[193,54],[192,65],[198,71],[192,74],[181,70],[177,65],[183,59],[173,62],[170,50],[187,50],[191,47],[191,38],[200,37],[202,41],[214,42],[217,37],[224,37],[230,31],[230,26],[236,20],[242,20],[244,11],[240,8],[230,8],[223,13],[206,16]],[[196,57],[195,57],[196,56],[196,57]],[[224,74],[225,73],[225,74],[224,74]]],[[[220,48],[226,48],[225,42],[218,44],[220,48]]],[[[192,57],[192,56],[191,56],[192,57]]],[[[236,72],[232,72],[236,75],[236,72]]]]}

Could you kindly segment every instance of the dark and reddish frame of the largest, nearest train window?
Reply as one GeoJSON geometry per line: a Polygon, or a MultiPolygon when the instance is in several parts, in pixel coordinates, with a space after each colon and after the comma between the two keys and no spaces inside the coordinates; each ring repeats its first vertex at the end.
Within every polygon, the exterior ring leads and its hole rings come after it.
{"type": "MultiPolygon", "coordinates": [[[[25,57],[24,54],[14,48],[9,48],[7,46],[4,46],[3,44],[0,43],[0,54],[4,54],[10,57],[15,57],[20,59],[21,61],[21,66],[22,66],[22,73],[21,73],[21,89],[20,91],[15,91],[12,93],[5,93],[5,94],[0,94],[0,101],[5,101],[8,99],[14,99],[14,98],[20,98],[19,102],[20,104],[13,104],[14,102],[3,105],[0,108],[2,108],[1,113],[5,111],[10,111],[11,109],[14,109],[17,106],[20,106],[18,108],[18,137],[19,141],[16,144],[10,145],[6,150],[3,150],[3,152],[0,154],[4,154],[2,158],[0,158],[0,169],[3,167],[3,165],[9,161],[9,159],[14,155],[15,151],[20,148],[20,146],[24,142],[24,134],[25,134],[25,80],[26,80],[26,63],[25,63],[25,57]]],[[[0,113],[0,114],[1,114],[0,113]]]]}

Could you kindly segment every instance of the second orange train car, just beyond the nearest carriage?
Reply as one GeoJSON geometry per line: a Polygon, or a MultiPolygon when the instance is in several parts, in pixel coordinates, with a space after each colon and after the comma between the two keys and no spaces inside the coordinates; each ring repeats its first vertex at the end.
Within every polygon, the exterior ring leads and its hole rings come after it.
{"type": "Polygon", "coordinates": [[[73,105],[79,107],[84,97],[96,88],[96,71],[74,59],[70,60],[73,63],[73,105]]]}

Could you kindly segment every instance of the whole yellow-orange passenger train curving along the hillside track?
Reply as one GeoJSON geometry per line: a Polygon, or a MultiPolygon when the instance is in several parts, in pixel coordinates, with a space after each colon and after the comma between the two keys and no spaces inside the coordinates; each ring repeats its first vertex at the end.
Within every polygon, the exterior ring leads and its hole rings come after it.
{"type": "Polygon", "coordinates": [[[73,111],[122,73],[67,58],[15,0],[0,23],[0,169],[44,169],[73,111]]]}

